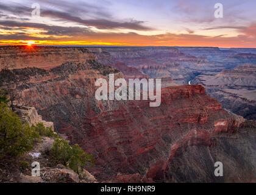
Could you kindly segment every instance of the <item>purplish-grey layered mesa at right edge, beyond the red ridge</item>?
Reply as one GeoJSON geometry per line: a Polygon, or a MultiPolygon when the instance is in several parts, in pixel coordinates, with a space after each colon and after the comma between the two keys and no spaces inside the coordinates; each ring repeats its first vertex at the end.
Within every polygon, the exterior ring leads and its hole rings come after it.
{"type": "Polygon", "coordinates": [[[256,119],[256,65],[238,66],[215,76],[197,76],[193,83],[204,85],[207,93],[224,108],[244,118],[256,119]]]}

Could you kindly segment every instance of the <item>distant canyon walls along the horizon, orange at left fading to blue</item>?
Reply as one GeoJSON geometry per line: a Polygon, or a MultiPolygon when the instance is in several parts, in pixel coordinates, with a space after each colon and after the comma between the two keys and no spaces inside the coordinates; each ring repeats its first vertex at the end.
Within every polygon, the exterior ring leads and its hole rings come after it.
{"type": "Polygon", "coordinates": [[[37,47],[1,46],[0,69],[51,69],[65,62],[96,60],[117,68],[125,77],[162,77],[164,86],[187,84],[198,74],[215,75],[243,63],[255,63],[253,49],[196,47],[37,47]]]}

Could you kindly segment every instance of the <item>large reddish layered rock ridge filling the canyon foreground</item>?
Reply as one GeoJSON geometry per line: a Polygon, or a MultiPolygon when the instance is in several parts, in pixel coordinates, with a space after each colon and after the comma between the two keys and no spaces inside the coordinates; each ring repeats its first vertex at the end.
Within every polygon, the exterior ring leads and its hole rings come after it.
{"type": "Polygon", "coordinates": [[[57,132],[93,154],[89,171],[99,181],[255,181],[254,121],[223,110],[201,85],[162,89],[160,107],[97,101],[94,82],[109,73],[123,76],[90,61],[12,82],[20,104],[37,108],[57,132]],[[224,164],[224,177],[214,176],[215,161],[224,164]]]}

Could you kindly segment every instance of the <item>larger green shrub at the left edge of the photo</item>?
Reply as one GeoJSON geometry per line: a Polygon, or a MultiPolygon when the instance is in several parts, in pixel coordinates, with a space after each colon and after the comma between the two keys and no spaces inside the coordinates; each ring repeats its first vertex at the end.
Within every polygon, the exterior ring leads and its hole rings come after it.
{"type": "Polygon", "coordinates": [[[0,158],[7,155],[16,156],[30,151],[38,133],[3,103],[0,103],[0,158]]]}

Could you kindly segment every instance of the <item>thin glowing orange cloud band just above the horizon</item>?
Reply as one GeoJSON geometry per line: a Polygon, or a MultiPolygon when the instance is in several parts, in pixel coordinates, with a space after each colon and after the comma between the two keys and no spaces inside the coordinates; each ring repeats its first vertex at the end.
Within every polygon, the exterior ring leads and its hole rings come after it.
{"type": "Polygon", "coordinates": [[[214,46],[222,48],[256,48],[254,27],[236,37],[209,37],[195,34],[139,35],[135,33],[92,33],[58,40],[0,40],[0,44],[116,45],[116,46],[214,46]]]}

